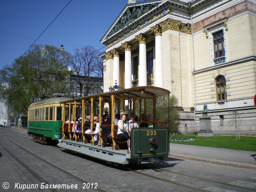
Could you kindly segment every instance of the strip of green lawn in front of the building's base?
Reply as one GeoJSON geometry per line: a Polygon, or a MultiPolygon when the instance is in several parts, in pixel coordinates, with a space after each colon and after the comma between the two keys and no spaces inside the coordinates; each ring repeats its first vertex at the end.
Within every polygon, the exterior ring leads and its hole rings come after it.
{"type": "Polygon", "coordinates": [[[195,137],[195,141],[170,141],[170,143],[256,151],[256,137],[240,136],[240,140],[239,137],[236,140],[236,136],[214,135],[214,137],[204,138],[197,137],[197,134],[183,135],[183,137],[186,136],[195,137]]]}

